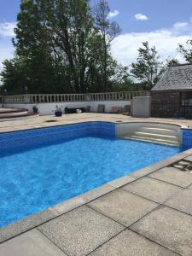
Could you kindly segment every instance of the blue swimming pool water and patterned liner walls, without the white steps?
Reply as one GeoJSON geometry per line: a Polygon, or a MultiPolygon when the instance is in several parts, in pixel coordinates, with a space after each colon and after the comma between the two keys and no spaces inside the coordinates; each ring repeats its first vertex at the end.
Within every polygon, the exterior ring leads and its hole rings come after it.
{"type": "Polygon", "coordinates": [[[0,227],[181,151],[90,122],[0,135],[0,227]]]}

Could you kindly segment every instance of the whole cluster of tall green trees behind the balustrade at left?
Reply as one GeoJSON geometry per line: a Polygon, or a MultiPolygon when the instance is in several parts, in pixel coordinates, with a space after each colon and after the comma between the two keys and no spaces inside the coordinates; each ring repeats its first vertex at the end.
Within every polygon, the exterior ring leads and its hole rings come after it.
{"type": "Polygon", "coordinates": [[[3,88],[9,93],[22,93],[26,85],[29,93],[83,93],[119,86],[114,79],[118,64],[110,55],[119,26],[108,20],[106,1],[92,11],[89,0],[22,0],[15,57],[3,63],[3,88]]]}

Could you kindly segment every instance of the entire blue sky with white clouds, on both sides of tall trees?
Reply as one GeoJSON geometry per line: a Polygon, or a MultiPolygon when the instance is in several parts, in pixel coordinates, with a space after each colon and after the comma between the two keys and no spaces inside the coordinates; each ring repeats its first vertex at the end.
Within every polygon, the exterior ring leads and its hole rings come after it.
{"type": "MultiPolygon", "coordinates": [[[[192,0],[108,0],[108,4],[109,19],[121,28],[111,49],[119,63],[128,66],[136,61],[144,41],[156,46],[162,61],[167,57],[183,61],[177,45],[192,38],[192,0]]],[[[20,0],[0,0],[0,68],[14,55],[11,38],[19,10],[20,0]]]]}

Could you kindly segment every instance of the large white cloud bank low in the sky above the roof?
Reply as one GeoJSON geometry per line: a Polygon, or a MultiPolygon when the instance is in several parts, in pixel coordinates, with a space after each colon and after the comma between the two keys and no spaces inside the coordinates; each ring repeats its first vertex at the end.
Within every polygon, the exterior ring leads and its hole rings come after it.
{"type": "MultiPolygon", "coordinates": [[[[187,22],[186,22],[187,23],[187,22]]],[[[177,24],[177,23],[176,23],[177,24]]],[[[177,52],[178,44],[185,44],[192,37],[192,21],[186,26],[175,26],[152,32],[130,32],[115,38],[112,45],[112,55],[123,65],[130,65],[137,60],[137,49],[148,41],[150,46],[156,46],[160,59],[175,57],[183,61],[183,56],[177,52]]]]}

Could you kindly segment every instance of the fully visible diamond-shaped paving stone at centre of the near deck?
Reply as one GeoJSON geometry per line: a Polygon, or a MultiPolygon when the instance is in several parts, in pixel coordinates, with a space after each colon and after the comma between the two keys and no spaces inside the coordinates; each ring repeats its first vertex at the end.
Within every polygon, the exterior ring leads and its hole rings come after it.
{"type": "Polygon", "coordinates": [[[158,207],[158,204],[133,195],[123,189],[117,189],[108,195],[91,201],[88,206],[113,218],[120,224],[130,226],[137,219],[158,207]]]}

